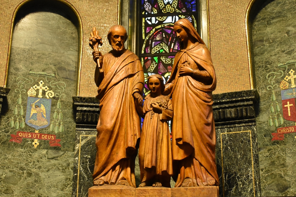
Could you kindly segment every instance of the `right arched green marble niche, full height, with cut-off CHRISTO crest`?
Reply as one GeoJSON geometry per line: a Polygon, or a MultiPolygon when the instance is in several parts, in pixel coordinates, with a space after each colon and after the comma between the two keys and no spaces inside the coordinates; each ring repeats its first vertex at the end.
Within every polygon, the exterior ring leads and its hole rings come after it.
{"type": "Polygon", "coordinates": [[[249,13],[252,69],[260,94],[256,122],[262,196],[295,194],[296,178],[290,171],[296,168],[295,133],[275,138],[281,128],[292,128],[296,122],[296,89],[289,73],[296,70],[295,17],[293,0],[256,0],[249,13]]]}

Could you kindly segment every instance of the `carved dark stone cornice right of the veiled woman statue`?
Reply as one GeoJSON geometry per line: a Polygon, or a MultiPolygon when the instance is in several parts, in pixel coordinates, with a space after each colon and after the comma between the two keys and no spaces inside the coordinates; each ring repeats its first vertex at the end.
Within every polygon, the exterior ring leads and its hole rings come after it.
{"type": "Polygon", "coordinates": [[[256,103],[259,93],[256,89],[213,95],[215,127],[255,125],[256,103]]]}

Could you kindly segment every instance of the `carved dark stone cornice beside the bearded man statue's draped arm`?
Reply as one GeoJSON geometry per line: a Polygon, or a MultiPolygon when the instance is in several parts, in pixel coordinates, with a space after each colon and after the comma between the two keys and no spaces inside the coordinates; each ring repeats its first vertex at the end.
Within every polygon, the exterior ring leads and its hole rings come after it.
{"type": "Polygon", "coordinates": [[[76,128],[95,128],[99,120],[99,101],[94,97],[73,96],[76,128]]]}

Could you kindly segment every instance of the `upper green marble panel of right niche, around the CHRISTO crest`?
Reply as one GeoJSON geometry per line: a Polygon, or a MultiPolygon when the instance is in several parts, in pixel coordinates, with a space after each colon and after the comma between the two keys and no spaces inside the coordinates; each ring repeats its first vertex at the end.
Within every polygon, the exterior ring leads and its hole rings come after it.
{"type": "MultiPolygon", "coordinates": [[[[290,134],[285,135],[284,141],[271,142],[271,133],[275,133],[277,128],[295,125],[295,122],[285,119],[282,124],[280,122],[283,112],[279,87],[284,77],[290,76],[288,72],[291,69],[296,70],[295,63],[285,64],[290,60],[296,62],[295,17],[294,0],[275,0],[261,9],[252,24],[252,58],[255,66],[256,86],[260,94],[260,109],[256,118],[259,147],[295,143],[295,135],[290,134]],[[285,65],[279,67],[279,64],[285,65]],[[273,91],[274,99],[272,100],[273,91]],[[279,112],[276,110],[277,104],[279,112]],[[271,112],[271,106],[274,112],[271,112]],[[278,124],[274,123],[275,117],[278,124]]],[[[289,84],[291,88],[290,80],[289,84]]]]}

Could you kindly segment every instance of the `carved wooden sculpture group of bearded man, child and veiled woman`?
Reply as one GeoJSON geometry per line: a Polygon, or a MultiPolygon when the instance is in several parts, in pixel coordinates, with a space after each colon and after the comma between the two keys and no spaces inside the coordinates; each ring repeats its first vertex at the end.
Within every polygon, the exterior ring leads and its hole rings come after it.
{"type": "Polygon", "coordinates": [[[216,76],[210,52],[192,24],[180,19],[174,31],[181,42],[171,76],[148,77],[150,93],[142,99],[144,71],[134,53],[124,47],[126,30],[114,25],[108,33],[112,50],[97,50],[101,38],[94,29],[95,82],[100,116],[96,137],[94,185],[136,187],[135,158],[139,148],[139,187],[218,186],[212,91],[216,76]],[[143,117],[143,125],[139,117],[143,117]],[[172,139],[168,120],[172,120],[172,139]]]}

